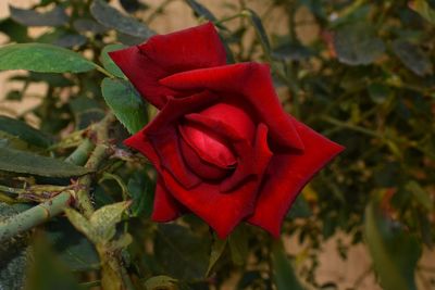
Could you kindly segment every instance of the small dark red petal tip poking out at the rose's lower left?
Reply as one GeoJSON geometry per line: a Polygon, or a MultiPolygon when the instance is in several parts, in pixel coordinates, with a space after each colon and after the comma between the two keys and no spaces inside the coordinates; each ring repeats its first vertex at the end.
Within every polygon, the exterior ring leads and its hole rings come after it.
{"type": "Polygon", "coordinates": [[[166,190],[162,178],[158,177],[151,219],[154,222],[165,223],[171,222],[181,215],[181,206],[166,190]]]}

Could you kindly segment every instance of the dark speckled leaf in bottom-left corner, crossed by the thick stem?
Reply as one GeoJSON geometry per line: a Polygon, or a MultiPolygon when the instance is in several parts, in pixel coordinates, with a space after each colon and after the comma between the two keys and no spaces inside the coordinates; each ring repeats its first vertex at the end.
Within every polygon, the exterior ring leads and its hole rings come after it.
{"type": "MultiPolygon", "coordinates": [[[[0,223],[17,212],[11,205],[0,203],[0,223]]],[[[0,289],[23,289],[26,280],[29,249],[26,236],[1,241],[0,289]]]]}

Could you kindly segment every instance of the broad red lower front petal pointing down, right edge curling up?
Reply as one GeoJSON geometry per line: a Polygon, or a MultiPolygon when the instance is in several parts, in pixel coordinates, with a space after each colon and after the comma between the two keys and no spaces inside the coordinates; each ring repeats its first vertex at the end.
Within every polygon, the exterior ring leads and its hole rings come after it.
{"type": "Polygon", "coordinates": [[[241,219],[252,214],[258,189],[262,175],[271,159],[268,147],[268,128],[260,125],[257,130],[256,160],[259,172],[258,176],[251,176],[231,192],[222,193],[220,185],[202,182],[192,189],[185,189],[174,177],[163,171],[163,180],[172,196],[185,207],[206,220],[220,238],[225,238],[241,219]]]}

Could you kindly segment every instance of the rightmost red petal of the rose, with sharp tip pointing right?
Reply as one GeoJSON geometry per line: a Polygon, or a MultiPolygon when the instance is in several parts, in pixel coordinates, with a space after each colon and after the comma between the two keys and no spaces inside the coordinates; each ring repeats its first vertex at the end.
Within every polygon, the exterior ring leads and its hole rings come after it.
{"type": "Polygon", "coordinates": [[[248,222],[279,237],[281,225],[303,186],[344,148],[293,119],[304,144],[299,154],[272,157],[256,211],[248,222]]]}

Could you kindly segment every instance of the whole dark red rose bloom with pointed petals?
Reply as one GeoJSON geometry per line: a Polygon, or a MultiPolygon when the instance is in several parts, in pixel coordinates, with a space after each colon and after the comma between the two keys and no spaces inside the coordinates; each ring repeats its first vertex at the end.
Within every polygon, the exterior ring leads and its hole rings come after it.
{"type": "Polygon", "coordinates": [[[241,220],[278,236],[298,192],[343,150],[284,112],[268,65],[227,65],[210,23],[110,56],[161,110],[125,140],[159,173],[156,222],[187,210],[221,238],[241,220]]]}

